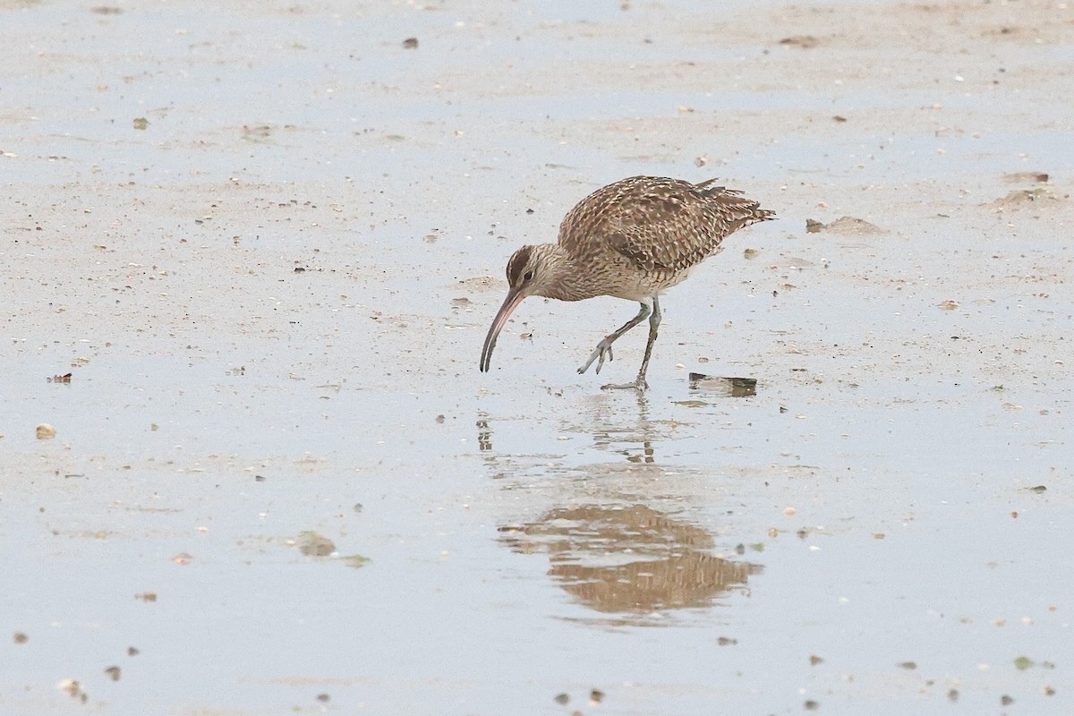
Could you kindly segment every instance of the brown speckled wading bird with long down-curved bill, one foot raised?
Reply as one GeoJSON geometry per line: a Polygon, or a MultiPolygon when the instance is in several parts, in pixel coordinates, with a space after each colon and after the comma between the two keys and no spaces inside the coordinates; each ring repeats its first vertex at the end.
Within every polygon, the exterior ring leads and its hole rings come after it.
{"type": "Polygon", "coordinates": [[[626,385],[644,388],[659,324],[659,293],[685,280],[694,266],[720,250],[727,235],[774,216],[742,192],[713,186],[714,181],[691,184],[652,176],[621,179],[570,209],[555,244],[516,251],[507,264],[510,291],[485,338],[481,369],[488,370],[499,330],[525,296],[581,301],[608,295],[637,301],[642,310],[605,338],[579,372],[596,359],[599,372],[605,354],[611,360],[612,341],[652,312],[641,370],[635,383],[626,385]]]}

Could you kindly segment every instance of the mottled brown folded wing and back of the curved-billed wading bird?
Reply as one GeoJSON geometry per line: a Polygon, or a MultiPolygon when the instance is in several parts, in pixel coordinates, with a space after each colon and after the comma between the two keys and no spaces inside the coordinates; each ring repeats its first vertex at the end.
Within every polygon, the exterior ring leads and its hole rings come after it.
{"type": "Polygon", "coordinates": [[[771,216],[741,192],[663,177],[630,177],[599,189],[564,219],[560,244],[570,252],[604,247],[638,268],[683,271],[703,261],[725,236],[771,216]]]}

